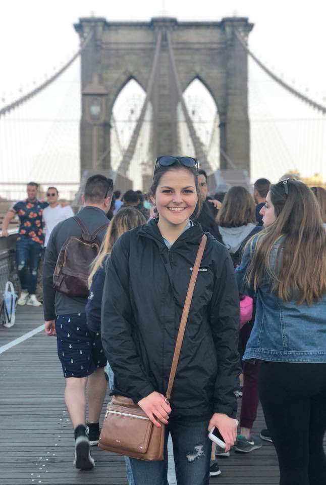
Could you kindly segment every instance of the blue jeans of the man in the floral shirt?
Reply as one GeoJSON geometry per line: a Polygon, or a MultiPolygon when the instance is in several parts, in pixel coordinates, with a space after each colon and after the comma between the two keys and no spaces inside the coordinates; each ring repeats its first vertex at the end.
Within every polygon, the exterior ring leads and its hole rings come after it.
{"type": "Polygon", "coordinates": [[[16,242],[16,266],[22,289],[30,295],[36,291],[37,269],[42,247],[29,236],[19,236],[16,242]]]}

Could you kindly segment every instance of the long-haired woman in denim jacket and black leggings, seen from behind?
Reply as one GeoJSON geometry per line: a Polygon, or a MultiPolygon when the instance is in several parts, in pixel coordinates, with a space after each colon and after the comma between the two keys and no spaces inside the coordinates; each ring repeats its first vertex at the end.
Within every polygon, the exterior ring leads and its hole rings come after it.
{"type": "Polygon", "coordinates": [[[265,229],[236,270],[241,293],[257,297],[244,360],[262,361],[259,397],[282,485],[324,485],[326,457],[326,232],[312,191],[271,185],[265,229]]]}

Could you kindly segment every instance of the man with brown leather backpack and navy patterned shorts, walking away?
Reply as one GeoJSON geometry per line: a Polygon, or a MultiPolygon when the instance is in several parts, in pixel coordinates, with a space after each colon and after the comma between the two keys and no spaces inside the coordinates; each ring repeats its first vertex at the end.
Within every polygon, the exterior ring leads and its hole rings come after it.
{"type": "Polygon", "coordinates": [[[106,389],[101,336],[86,326],[87,278],[108,225],[106,214],[112,192],[110,178],[89,177],[84,207],[78,216],[60,222],[52,230],[44,258],[45,332],[57,335],[65,376],[65,403],[75,430],[74,465],[83,470],[94,466],[89,446],[98,443],[98,421],[106,389]]]}

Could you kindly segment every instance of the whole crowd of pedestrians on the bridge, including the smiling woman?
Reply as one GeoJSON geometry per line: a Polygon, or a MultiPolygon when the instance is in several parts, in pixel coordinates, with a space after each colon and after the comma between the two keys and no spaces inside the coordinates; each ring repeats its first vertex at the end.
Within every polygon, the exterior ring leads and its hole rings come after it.
{"type": "Polygon", "coordinates": [[[3,223],[8,235],[9,221],[20,218],[20,305],[41,304],[35,286],[46,246],[45,332],[57,336],[76,468],[94,466],[90,447],[100,440],[108,379],[111,394],[131,398],[154,426],[165,425],[163,460],[125,457],[130,485],[168,483],[169,435],[179,485],[207,485],[221,473],[216,456],[250,453],[262,440],[276,448],[282,485],[324,484],[326,190],[291,177],[275,184],[261,178],[252,194],[234,186],[210,197],[197,160],[172,156],[157,158],[148,196],[113,189],[111,179],[90,177],[74,215],[56,187],[43,202],[30,182],[27,199],[3,223]],[[257,436],[259,400],[267,428],[257,436]],[[209,440],[213,427],[225,446],[209,440]]]}

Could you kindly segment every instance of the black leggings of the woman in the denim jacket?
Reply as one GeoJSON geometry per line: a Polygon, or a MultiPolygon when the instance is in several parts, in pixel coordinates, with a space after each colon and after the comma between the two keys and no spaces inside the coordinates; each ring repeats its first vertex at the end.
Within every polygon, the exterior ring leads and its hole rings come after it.
{"type": "Polygon", "coordinates": [[[326,363],[262,362],[259,398],[280,485],[326,485],[326,363]]]}

